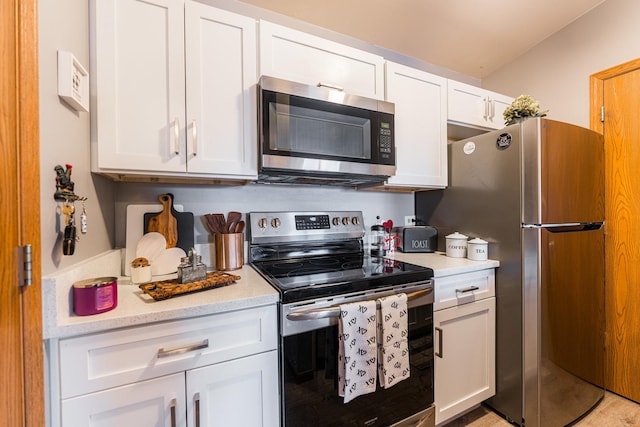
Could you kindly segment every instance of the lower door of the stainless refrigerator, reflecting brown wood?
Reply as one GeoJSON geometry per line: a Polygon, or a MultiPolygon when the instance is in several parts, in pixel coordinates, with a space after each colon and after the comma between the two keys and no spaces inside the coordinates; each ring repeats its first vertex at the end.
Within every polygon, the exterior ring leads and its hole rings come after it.
{"type": "Polygon", "coordinates": [[[524,424],[565,426],[604,397],[604,229],[523,228],[524,424]]]}

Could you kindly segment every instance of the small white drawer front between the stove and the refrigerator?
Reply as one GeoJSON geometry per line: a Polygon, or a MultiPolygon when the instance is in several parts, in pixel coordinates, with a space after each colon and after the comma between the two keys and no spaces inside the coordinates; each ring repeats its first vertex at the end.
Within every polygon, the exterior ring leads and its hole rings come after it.
{"type": "Polygon", "coordinates": [[[495,280],[493,268],[436,277],[433,309],[442,310],[495,296],[495,280]]]}

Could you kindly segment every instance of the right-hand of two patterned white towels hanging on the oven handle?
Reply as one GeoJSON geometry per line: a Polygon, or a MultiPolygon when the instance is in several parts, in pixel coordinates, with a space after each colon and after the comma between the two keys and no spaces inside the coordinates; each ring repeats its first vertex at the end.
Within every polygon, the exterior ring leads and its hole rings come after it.
{"type": "Polygon", "coordinates": [[[380,386],[389,388],[411,373],[407,295],[391,295],[378,302],[378,376],[380,386]]]}

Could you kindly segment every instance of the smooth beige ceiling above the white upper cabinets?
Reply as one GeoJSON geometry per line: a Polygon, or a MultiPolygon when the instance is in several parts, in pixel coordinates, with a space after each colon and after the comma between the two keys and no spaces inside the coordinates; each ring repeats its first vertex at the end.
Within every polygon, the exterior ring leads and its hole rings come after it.
{"type": "Polygon", "coordinates": [[[482,79],[605,0],[242,0],[482,79]]]}

